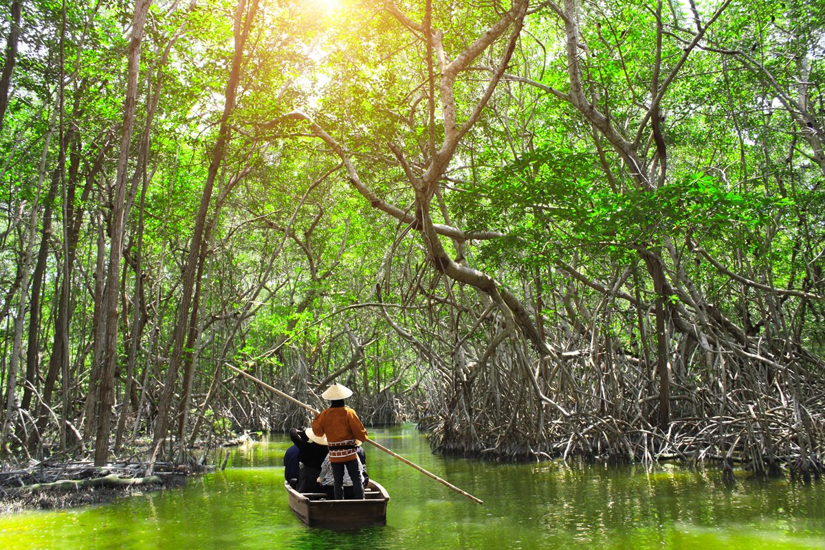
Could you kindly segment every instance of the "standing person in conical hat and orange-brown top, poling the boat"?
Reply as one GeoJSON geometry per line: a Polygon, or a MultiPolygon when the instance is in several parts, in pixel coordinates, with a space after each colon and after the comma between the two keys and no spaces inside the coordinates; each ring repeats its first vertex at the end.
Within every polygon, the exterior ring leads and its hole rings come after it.
{"type": "Polygon", "coordinates": [[[314,434],[327,436],[329,445],[329,462],[332,465],[335,499],[344,498],[344,468],[352,480],[352,492],[356,499],[364,498],[361,463],[356,449],[366,438],[366,430],[354,410],[344,405],[344,399],[352,395],[347,386],[335,383],[321,394],[331,403],[312,422],[314,434]]]}

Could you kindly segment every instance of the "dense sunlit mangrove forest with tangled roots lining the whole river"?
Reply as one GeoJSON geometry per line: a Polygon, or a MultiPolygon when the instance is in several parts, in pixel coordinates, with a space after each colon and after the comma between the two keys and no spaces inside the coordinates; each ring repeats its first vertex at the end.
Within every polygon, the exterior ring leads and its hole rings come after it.
{"type": "Polygon", "coordinates": [[[2,453],[305,425],[229,363],[443,453],[818,477],[823,21],[4,3],[2,453]]]}

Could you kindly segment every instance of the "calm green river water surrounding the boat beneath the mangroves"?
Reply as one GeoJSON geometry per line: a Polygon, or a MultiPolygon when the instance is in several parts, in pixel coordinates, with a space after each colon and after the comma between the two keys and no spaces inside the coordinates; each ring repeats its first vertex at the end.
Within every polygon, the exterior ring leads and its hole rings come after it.
{"type": "Polygon", "coordinates": [[[370,435],[483,506],[368,447],[370,476],[391,496],[387,526],[308,529],[287,505],[289,440],[276,435],[182,489],[2,517],[0,548],[825,548],[825,483],[727,488],[718,472],[669,466],[485,464],[433,456],[412,426],[370,435]]]}

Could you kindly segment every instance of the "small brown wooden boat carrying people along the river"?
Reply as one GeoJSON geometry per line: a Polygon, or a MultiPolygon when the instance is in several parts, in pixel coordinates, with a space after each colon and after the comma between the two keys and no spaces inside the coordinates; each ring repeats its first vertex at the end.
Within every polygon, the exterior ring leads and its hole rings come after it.
{"type": "Polygon", "coordinates": [[[356,529],[387,524],[389,494],[370,479],[363,501],[336,501],[323,492],[301,493],[284,483],[290,496],[290,508],[309,527],[356,529]]]}

